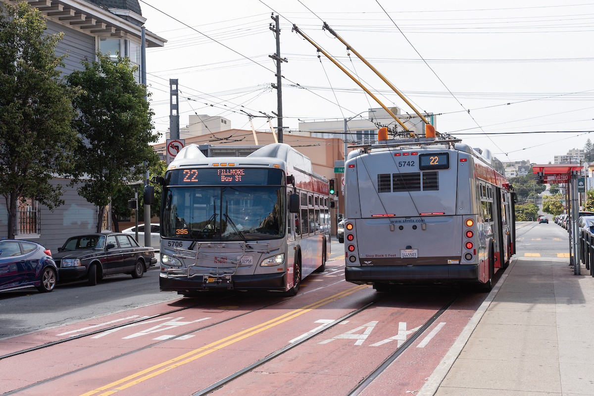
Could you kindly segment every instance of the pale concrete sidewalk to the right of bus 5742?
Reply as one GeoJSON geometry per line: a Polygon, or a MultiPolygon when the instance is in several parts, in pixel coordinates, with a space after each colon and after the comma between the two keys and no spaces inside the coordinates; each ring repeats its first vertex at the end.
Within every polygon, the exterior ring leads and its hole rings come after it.
{"type": "Polygon", "coordinates": [[[514,259],[418,395],[594,395],[594,279],[514,259]]]}

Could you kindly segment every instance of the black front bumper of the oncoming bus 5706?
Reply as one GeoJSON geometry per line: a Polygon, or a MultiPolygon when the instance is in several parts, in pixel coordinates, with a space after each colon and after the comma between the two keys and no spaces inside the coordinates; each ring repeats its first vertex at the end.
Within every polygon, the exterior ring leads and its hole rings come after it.
{"type": "Polygon", "coordinates": [[[165,276],[161,273],[159,277],[159,289],[162,292],[183,292],[197,290],[274,290],[285,291],[286,274],[258,274],[258,275],[234,275],[232,282],[227,285],[213,285],[203,282],[201,277],[188,279],[187,276],[165,276]]]}

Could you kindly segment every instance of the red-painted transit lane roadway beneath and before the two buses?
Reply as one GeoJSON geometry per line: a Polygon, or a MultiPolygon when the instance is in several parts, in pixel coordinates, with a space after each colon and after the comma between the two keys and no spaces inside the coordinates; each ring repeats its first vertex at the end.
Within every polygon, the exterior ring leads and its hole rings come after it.
{"type": "MultiPolygon", "coordinates": [[[[0,369],[7,374],[0,382],[0,392],[22,389],[19,395],[39,395],[60,389],[61,395],[191,395],[382,297],[214,392],[347,394],[459,294],[457,288],[429,286],[384,295],[370,286],[344,282],[344,267],[337,264],[340,261],[328,262],[326,272],[307,277],[301,294],[292,299],[274,293],[238,293],[213,302],[206,302],[206,298],[180,299],[8,340],[11,346],[2,346],[3,350],[23,349],[52,336],[103,330],[112,325],[110,322],[135,315],[150,316],[195,305],[2,359],[0,369]],[[201,300],[204,304],[199,304],[201,300]]],[[[415,341],[416,345],[365,392],[381,394],[398,389],[405,394],[420,389],[485,296],[462,293],[415,341]],[[417,347],[419,343],[425,344],[417,347]]]]}

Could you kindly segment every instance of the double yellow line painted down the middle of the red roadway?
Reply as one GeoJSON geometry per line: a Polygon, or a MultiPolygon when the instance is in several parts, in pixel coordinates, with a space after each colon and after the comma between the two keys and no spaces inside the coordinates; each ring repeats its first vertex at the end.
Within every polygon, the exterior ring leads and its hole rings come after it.
{"type": "Polygon", "coordinates": [[[236,343],[237,341],[244,340],[245,338],[254,336],[254,334],[258,334],[261,331],[267,330],[268,328],[274,327],[286,321],[289,321],[293,318],[298,317],[299,315],[303,315],[312,309],[319,308],[320,306],[326,305],[330,302],[336,301],[340,298],[346,297],[352,293],[358,292],[361,289],[367,288],[367,285],[359,285],[355,286],[354,288],[350,288],[343,292],[337,293],[333,296],[321,299],[320,301],[316,301],[312,304],[306,305],[302,308],[295,309],[294,311],[287,312],[284,315],[280,315],[277,318],[269,320],[267,322],[255,325],[254,327],[248,328],[247,330],[240,331],[239,333],[235,333],[232,336],[222,338],[218,341],[214,341],[206,346],[200,347],[198,349],[194,349],[188,353],[184,353],[184,355],[180,355],[178,357],[174,357],[173,359],[167,360],[166,362],[159,363],[158,365],[154,365],[148,369],[143,371],[139,371],[132,375],[129,375],[125,378],[118,379],[118,381],[112,382],[111,384],[105,385],[100,388],[93,389],[81,396],[90,396],[94,395],[98,392],[106,391],[100,394],[99,396],[108,396],[112,395],[115,392],[122,391],[133,385],[140,384],[141,382],[146,381],[147,379],[153,378],[157,375],[162,373],[168,372],[171,369],[175,369],[176,367],[185,365],[186,363],[193,362],[196,359],[200,359],[200,357],[206,356],[209,353],[216,352],[219,349],[223,349],[226,346],[236,343]],[[108,390],[110,389],[110,390],[108,390]]]}

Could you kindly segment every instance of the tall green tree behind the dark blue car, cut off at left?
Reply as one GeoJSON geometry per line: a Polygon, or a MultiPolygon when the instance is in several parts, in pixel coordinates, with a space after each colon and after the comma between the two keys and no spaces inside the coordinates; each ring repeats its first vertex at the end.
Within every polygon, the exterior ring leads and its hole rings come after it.
{"type": "Polygon", "coordinates": [[[26,2],[0,4],[0,194],[14,238],[18,200],[62,205],[54,175],[67,175],[77,135],[71,128],[72,91],[56,68],[60,34],[45,35],[41,12],[26,2]]]}

